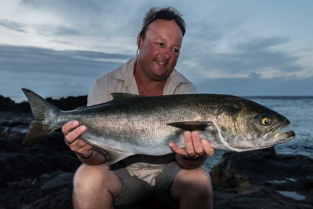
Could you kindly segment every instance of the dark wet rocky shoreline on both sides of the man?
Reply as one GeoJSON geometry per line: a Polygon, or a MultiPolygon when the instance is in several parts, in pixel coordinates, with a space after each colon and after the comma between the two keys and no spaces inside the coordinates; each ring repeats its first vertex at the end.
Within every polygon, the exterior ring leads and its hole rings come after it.
{"type": "MultiPolygon", "coordinates": [[[[87,103],[86,96],[47,100],[61,110],[87,103]]],[[[0,96],[0,208],[71,209],[72,178],[81,163],[60,130],[22,144],[32,119],[27,102],[0,96]]],[[[274,148],[227,152],[210,175],[214,208],[313,209],[313,159],[305,156],[278,155],[274,148]]],[[[151,199],[118,208],[160,207],[170,208],[151,199]]]]}

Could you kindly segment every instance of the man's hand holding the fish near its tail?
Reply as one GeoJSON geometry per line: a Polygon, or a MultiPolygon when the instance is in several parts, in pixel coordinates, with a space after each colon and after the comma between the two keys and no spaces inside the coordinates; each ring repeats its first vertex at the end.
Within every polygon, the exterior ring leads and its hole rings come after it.
{"type": "Polygon", "coordinates": [[[86,131],[86,127],[80,126],[76,128],[78,125],[79,122],[77,120],[73,120],[67,122],[62,127],[62,133],[64,134],[65,142],[67,146],[69,146],[71,150],[76,152],[79,157],[90,158],[93,153],[92,147],[89,144],[78,139],[79,136],[86,131]]]}

